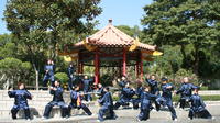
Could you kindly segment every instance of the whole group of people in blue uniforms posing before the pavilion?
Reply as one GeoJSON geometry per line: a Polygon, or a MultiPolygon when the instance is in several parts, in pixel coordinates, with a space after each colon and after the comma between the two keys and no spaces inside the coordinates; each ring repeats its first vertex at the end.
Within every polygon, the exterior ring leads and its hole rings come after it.
{"type": "MultiPolygon", "coordinates": [[[[52,62],[48,63],[53,66],[52,62]]],[[[54,67],[47,67],[54,69],[54,67]]],[[[50,70],[46,70],[50,75],[50,70]]],[[[45,76],[45,79],[53,77],[45,76]]],[[[62,116],[69,118],[72,109],[82,109],[88,115],[92,115],[89,108],[82,102],[82,100],[90,101],[91,96],[89,93],[89,85],[92,80],[88,79],[85,76],[81,79],[84,83],[84,91],[80,91],[79,85],[69,83],[70,90],[70,103],[65,103],[63,99],[64,89],[61,86],[58,80],[54,80],[53,85],[50,87],[50,93],[53,94],[53,100],[46,104],[43,118],[50,119],[51,111],[54,105],[61,108],[62,116]]],[[[180,88],[175,91],[174,85],[168,82],[166,77],[161,79],[158,82],[154,75],[146,77],[145,82],[140,80],[135,81],[138,83],[136,89],[131,88],[130,82],[127,80],[127,77],[118,80],[120,86],[120,98],[113,103],[112,94],[109,87],[102,87],[101,83],[97,86],[97,94],[99,96],[98,102],[101,105],[98,112],[98,120],[103,121],[105,119],[117,119],[114,110],[118,110],[121,105],[133,104],[133,109],[140,109],[140,114],[138,115],[138,121],[148,120],[151,110],[155,109],[156,111],[161,110],[161,107],[167,107],[172,113],[172,120],[177,120],[177,114],[175,108],[173,107],[172,96],[180,94],[180,108],[185,108],[187,102],[190,102],[189,119],[195,116],[211,119],[211,114],[206,109],[206,105],[198,94],[199,87],[194,86],[189,82],[189,79],[185,77],[180,88]],[[147,85],[147,86],[144,86],[147,85]],[[161,85],[161,88],[160,88],[161,85]],[[162,91],[162,93],[161,93],[162,91]],[[134,96],[136,96],[134,98],[134,96]],[[155,103],[155,108],[153,107],[155,103]]],[[[14,98],[14,105],[11,110],[12,119],[16,119],[16,113],[19,110],[24,110],[25,119],[30,120],[30,109],[28,105],[28,99],[32,99],[31,93],[25,89],[24,83],[18,85],[18,90],[9,89],[8,94],[10,98],[14,98]]]]}

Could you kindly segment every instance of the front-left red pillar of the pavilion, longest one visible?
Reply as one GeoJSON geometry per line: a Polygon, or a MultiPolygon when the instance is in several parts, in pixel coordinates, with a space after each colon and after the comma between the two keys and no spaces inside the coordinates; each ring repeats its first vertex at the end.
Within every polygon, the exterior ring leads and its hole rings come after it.
{"type": "Polygon", "coordinates": [[[99,83],[99,55],[97,51],[95,53],[95,83],[99,83]]]}

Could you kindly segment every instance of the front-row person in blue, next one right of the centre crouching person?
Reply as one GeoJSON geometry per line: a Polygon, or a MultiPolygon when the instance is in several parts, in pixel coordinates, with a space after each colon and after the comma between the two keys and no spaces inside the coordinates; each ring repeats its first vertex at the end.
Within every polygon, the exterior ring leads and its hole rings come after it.
{"type": "Polygon", "coordinates": [[[155,94],[150,92],[150,87],[145,87],[141,94],[141,112],[138,116],[138,121],[146,121],[150,119],[151,100],[156,99],[155,94]]]}

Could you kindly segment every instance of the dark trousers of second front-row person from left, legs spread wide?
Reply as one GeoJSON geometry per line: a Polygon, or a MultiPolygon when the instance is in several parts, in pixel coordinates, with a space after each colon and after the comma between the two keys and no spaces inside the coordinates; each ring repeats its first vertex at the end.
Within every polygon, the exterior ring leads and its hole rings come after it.
{"type": "Polygon", "coordinates": [[[65,104],[64,101],[51,101],[50,103],[46,104],[45,107],[45,111],[44,111],[44,118],[50,118],[51,111],[53,109],[54,105],[58,105],[61,108],[61,112],[62,112],[62,118],[67,116],[68,113],[68,105],[65,104]]]}

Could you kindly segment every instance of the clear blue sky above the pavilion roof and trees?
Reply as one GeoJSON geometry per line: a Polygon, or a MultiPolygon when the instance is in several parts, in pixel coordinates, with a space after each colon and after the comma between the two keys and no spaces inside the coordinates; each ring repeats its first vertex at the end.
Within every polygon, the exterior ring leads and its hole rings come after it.
{"type": "MultiPolygon", "coordinates": [[[[10,33],[7,30],[6,22],[2,20],[6,10],[7,0],[0,0],[0,34],[10,33]]],[[[113,25],[141,25],[141,19],[144,14],[143,7],[152,3],[152,0],[102,0],[99,4],[102,13],[96,18],[99,21],[97,29],[102,29],[112,19],[113,25]]]]}

